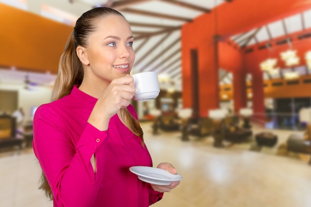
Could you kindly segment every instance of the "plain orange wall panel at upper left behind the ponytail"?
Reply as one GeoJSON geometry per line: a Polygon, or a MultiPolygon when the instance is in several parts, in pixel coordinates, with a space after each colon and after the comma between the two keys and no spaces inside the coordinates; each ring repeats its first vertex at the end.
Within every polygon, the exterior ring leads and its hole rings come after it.
{"type": "Polygon", "coordinates": [[[0,3],[0,66],[57,73],[73,27],[0,3]]]}

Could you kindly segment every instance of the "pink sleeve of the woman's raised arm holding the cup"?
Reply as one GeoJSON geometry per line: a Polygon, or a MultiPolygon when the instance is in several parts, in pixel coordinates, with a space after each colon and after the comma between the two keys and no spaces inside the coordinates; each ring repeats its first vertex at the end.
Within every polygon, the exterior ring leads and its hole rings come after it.
{"type": "Polygon", "coordinates": [[[38,108],[33,124],[34,152],[51,186],[56,206],[92,206],[103,178],[101,163],[109,132],[87,124],[75,147],[66,123],[48,105],[38,108]],[[90,163],[93,154],[96,174],[90,163]]]}

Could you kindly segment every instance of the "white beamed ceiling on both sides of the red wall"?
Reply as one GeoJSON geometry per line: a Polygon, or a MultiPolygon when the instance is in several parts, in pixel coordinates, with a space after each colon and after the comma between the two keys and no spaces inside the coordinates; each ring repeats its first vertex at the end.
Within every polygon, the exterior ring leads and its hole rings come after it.
{"type": "MultiPolygon", "coordinates": [[[[203,13],[211,12],[216,6],[231,3],[233,0],[95,0],[96,4],[90,3],[94,0],[28,1],[27,4],[27,0],[0,0],[8,4],[15,2],[15,6],[22,9],[68,24],[74,24],[78,16],[95,6],[109,6],[119,10],[131,24],[135,38],[133,47],[136,60],[133,72],[156,71],[159,76],[174,82],[177,89],[181,89],[181,26],[203,13]],[[35,3],[40,3],[41,7],[34,5],[35,3]],[[25,6],[23,7],[22,4],[25,6]],[[61,12],[47,13],[42,11],[42,5],[61,12]],[[68,19],[64,16],[60,18],[64,12],[72,18],[68,19]]],[[[309,27],[311,27],[311,11],[306,11],[236,34],[231,37],[231,40],[240,49],[246,49],[259,42],[272,40],[281,35],[286,36],[309,27]]],[[[232,81],[232,75],[226,72],[226,69],[220,69],[219,78],[220,83],[232,81]]]]}

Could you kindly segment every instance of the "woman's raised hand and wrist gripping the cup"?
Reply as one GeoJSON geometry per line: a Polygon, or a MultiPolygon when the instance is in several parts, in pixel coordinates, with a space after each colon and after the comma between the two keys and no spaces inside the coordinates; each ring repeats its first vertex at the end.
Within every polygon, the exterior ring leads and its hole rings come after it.
{"type": "Polygon", "coordinates": [[[110,118],[130,104],[135,90],[134,79],[129,74],[112,80],[98,98],[87,122],[98,130],[107,130],[110,118]]]}

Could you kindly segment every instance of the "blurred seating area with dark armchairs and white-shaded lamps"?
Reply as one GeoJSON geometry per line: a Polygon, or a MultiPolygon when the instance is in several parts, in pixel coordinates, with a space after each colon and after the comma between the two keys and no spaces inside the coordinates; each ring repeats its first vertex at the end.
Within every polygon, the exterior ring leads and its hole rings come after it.
{"type": "Polygon", "coordinates": [[[283,136],[278,132],[282,130],[266,128],[266,120],[256,120],[258,116],[251,110],[241,110],[247,111],[245,113],[229,113],[224,109],[214,111],[214,114],[210,111],[208,117],[194,118],[193,110],[189,108],[170,112],[156,109],[148,116],[154,117],[149,120],[154,135],[180,133],[181,141],[209,140],[214,147],[224,150],[237,147],[274,155],[280,155],[283,150],[284,156],[304,154],[311,158],[311,125],[306,125],[304,130],[286,131],[283,136]]]}

